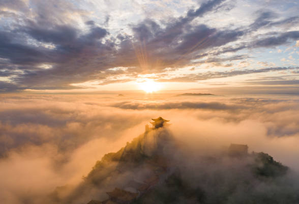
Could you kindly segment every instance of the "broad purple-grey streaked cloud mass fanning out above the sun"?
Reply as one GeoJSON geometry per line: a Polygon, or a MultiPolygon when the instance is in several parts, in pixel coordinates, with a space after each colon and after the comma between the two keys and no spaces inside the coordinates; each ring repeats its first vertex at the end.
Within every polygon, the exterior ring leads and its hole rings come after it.
{"type": "MultiPolygon", "coordinates": [[[[108,2],[103,4],[109,6],[108,2]]],[[[280,16],[268,5],[248,15],[251,24],[220,26],[217,21],[208,21],[213,15],[236,18],[230,13],[237,9],[235,3],[225,0],[203,1],[189,8],[181,5],[184,12],[177,10],[176,15],[141,15],[124,23],[123,28],[115,26],[120,20],[115,15],[97,13],[101,20],[96,20],[92,14],[99,9],[96,3],[14,1],[0,7],[0,75],[11,83],[3,82],[0,89],[5,91],[91,88],[74,84],[126,83],[144,74],[167,75],[170,69],[204,63],[233,67],[222,63],[250,58],[238,54],[241,50],[275,48],[299,39],[298,16],[293,12],[280,16]],[[280,30],[272,32],[274,27],[280,30]],[[227,53],[234,56],[227,58],[227,53]],[[123,72],[112,78],[109,70],[119,67],[123,72]]],[[[134,12],[122,15],[131,18],[134,12]]]]}

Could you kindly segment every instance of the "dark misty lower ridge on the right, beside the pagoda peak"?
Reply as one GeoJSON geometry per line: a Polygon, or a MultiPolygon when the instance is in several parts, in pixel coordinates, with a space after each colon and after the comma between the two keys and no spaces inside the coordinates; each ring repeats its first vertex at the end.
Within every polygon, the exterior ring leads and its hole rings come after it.
{"type": "Polygon", "coordinates": [[[283,179],[289,168],[271,156],[225,160],[205,158],[201,167],[180,168],[136,203],[298,203],[299,192],[283,179]]]}

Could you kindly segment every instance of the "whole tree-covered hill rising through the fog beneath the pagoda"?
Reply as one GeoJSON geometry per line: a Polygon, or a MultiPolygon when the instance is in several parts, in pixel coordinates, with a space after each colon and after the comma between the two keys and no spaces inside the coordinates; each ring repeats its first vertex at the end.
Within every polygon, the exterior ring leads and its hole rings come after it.
{"type": "Polygon", "coordinates": [[[100,202],[115,187],[136,193],[146,178],[171,172],[157,183],[146,183],[149,187],[132,203],[299,203],[299,187],[295,177],[290,179],[289,168],[264,152],[198,157],[176,143],[164,127],[143,133],[117,152],[104,155],[66,198],[59,198],[63,187],[51,199],[53,203],[100,202]],[[141,174],[148,177],[139,181],[141,174]]]}

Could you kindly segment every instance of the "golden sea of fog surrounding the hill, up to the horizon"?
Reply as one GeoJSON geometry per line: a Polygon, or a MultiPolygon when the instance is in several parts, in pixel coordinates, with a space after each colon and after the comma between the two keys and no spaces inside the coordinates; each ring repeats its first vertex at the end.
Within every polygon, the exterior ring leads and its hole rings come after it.
{"type": "MultiPolygon", "coordinates": [[[[197,155],[247,144],[249,152],[266,152],[299,171],[297,96],[171,96],[3,94],[2,203],[48,203],[45,197],[56,187],[75,188],[96,161],[126,146],[159,116],[170,120],[173,136],[197,155]]],[[[85,199],[92,197],[78,203],[85,199]]]]}

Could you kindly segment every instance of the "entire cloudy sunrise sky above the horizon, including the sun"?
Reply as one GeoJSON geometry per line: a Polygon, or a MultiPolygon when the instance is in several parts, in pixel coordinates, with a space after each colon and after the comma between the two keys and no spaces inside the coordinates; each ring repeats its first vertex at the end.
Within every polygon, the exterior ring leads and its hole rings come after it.
{"type": "Polygon", "coordinates": [[[297,94],[298,9],[295,0],[1,1],[0,91],[297,94]]]}

